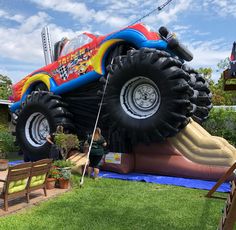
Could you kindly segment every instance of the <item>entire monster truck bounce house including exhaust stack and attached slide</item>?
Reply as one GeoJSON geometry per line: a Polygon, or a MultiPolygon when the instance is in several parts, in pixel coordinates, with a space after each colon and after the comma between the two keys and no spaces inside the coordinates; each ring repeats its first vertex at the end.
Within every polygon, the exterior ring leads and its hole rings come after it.
{"type": "Polygon", "coordinates": [[[42,38],[47,65],[13,86],[12,121],[26,161],[48,157],[46,136],[58,125],[86,139],[100,106],[98,125],[117,153],[104,169],[217,179],[236,161],[233,146],[198,124],[212,107],[208,84],[165,27],[83,33],[54,52],[46,29],[42,38]]]}

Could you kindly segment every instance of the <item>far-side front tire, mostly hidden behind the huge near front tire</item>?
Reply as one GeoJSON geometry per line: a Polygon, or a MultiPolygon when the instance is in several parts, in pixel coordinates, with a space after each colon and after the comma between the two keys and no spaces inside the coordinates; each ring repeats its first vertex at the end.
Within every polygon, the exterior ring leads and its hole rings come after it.
{"type": "Polygon", "coordinates": [[[190,74],[189,84],[194,89],[194,95],[191,97],[191,102],[196,105],[196,110],[192,115],[193,120],[198,123],[204,122],[212,108],[212,94],[206,80],[196,70],[184,65],[183,69],[190,74]]]}

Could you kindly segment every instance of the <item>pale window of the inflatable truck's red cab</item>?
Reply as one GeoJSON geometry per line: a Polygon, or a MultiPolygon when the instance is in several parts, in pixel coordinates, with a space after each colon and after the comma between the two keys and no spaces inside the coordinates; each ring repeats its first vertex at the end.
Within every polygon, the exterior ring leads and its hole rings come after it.
{"type": "Polygon", "coordinates": [[[66,42],[60,56],[65,56],[66,54],[71,53],[72,51],[90,42],[92,42],[90,37],[88,37],[86,34],[80,34],[79,36],[66,42]]]}

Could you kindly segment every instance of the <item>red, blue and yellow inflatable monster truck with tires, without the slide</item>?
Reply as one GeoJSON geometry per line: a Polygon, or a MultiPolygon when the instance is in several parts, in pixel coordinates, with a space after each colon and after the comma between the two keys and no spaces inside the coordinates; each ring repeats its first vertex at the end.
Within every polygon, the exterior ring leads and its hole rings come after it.
{"type": "Polygon", "coordinates": [[[190,117],[203,121],[211,95],[205,80],[184,64],[190,60],[191,53],[165,27],[151,32],[143,24],[57,42],[54,62],[13,86],[11,112],[25,159],[48,156],[45,138],[58,125],[85,138],[106,79],[99,126],[112,151],[163,141],[190,117]]]}

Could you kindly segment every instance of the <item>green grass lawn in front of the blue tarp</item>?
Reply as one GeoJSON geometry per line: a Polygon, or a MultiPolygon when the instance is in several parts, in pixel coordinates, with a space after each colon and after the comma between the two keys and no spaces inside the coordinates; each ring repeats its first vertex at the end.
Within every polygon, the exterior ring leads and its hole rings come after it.
{"type": "Polygon", "coordinates": [[[215,230],[225,202],[203,190],[113,179],[85,179],[80,189],[73,179],[71,192],[0,218],[0,229],[215,230]]]}

